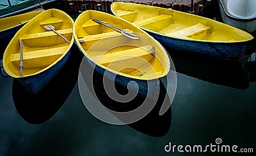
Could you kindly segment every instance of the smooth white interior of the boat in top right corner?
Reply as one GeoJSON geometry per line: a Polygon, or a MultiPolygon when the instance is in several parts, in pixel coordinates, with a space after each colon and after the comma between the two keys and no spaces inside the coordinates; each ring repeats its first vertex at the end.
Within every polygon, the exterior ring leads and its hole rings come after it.
{"type": "Polygon", "coordinates": [[[256,18],[255,0],[219,0],[225,14],[244,20],[256,18]]]}

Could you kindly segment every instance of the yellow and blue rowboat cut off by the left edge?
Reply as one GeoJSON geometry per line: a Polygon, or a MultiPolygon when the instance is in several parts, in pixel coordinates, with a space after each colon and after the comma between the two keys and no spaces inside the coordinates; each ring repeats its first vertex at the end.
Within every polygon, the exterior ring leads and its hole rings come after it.
{"type": "MultiPolygon", "coordinates": [[[[25,25],[29,20],[34,18],[36,15],[42,13],[40,11],[33,11],[29,13],[22,13],[12,17],[0,18],[0,52],[4,52],[6,46],[11,41],[15,33],[25,25]]],[[[0,59],[2,59],[3,53],[0,53],[0,59]]]]}

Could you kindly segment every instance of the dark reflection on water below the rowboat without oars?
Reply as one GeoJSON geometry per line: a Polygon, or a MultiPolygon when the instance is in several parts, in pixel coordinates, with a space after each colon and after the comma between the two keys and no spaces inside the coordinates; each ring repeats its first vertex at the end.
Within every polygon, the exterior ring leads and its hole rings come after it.
{"type": "Polygon", "coordinates": [[[242,57],[240,61],[233,61],[177,50],[168,50],[168,52],[178,73],[235,89],[247,89],[250,86],[248,74],[243,69],[247,56],[242,57]]]}

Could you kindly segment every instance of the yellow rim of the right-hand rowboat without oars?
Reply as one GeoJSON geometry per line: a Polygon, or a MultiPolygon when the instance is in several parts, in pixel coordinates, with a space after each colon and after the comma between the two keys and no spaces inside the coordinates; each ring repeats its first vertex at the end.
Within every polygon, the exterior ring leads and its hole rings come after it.
{"type": "MultiPolygon", "coordinates": [[[[114,5],[117,4],[117,5],[120,5],[120,4],[124,4],[124,3],[127,3],[127,2],[113,2],[111,4],[111,12],[113,13],[113,15],[115,15],[116,17],[119,17],[117,15],[117,13],[115,13],[113,10],[116,10],[114,8],[114,5]]],[[[142,5],[142,6],[147,6],[148,8],[160,8],[160,9],[163,9],[163,10],[168,10],[167,8],[162,8],[162,7],[159,7],[159,6],[150,6],[150,5],[147,5],[147,4],[136,4],[136,3],[129,3],[129,4],[134,4],[134,5],[142,5]]],[[[244,40],[237,40],[237,41],[214,41],[214,40],[206,40],[206,39],[191,39],[191,38],[179,38],[179,37],[175,37],[175,36],[169,36],[167,34],[163,34],[161,32],[156,32],[156,31],[152,31],[150,29],[147,29],[147,28],[144,28],[144,27],[140,27],[141,29],[145,30],[145,31],[148,31],[148,32],[152,32],[152,33],[155,33],[155,34],[159,34],[161,36],[165,36],[165,37],[168,37],[168,38],[175,38],[175,39],[180,39],[180,40],[184,40],[184,41],[196,41],[196,42],[202,42],[202,43],[243,43],[243,42],[248,42],[248,41],[252,41],[252,39],[254,38],[252,36],[252,34],[246,32],[246,31],[243,31],[241,29],[238,29],[236,27],[233,27],[231,25],[228,25],[228,24],[223,24],[222,22],[219,22],[217,20],[212,20],[211,18],[206,18],[206,17],[202,17],[202,16],[199,16],[199,15],[193,15],[191,13],[186,13],[186,12],[183,12],[183,11],[177,11],[177,10],[172,10],[173,12],[178,12],[178,13],[184,13],[184,14],[187,14],[187,15],[190,15],[190,16],[195,16],[195,17],[199,17],[199,18],[203,18],[205,20],[210,20],[211,22],[215,22],[217,24],[221,24],[221,25],[225,25],[225,27],[230,27],[232,29],[235,29],[237,31],[241,31],[243,32],[243,34],[246,34],[247,36],[249,36],[250,38],[249,39],[244,39],[244,40]]],[[[122,18],[122,17],[120,17],[122,18]]],[[[129,22],[129,21],[128,21],[129,22]]],[[[132,22],[131,22],[132,23],[132,22]]],[[[138,26],[138,25],[136,25],[138,26]]]]}

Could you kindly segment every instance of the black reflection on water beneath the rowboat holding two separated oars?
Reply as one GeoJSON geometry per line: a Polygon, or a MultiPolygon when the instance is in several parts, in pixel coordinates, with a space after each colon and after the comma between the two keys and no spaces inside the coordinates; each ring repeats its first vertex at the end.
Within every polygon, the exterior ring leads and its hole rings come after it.
{"type": "Polygon", "coordinates": [[[78,52],[76,46],[72,48],[67,64],[36,96],[13,79],[13,103],[20,117],[29,124],[42,124],[49,120],[65,103],[76,85],[83,54],[78,52]]]}

